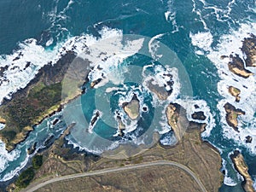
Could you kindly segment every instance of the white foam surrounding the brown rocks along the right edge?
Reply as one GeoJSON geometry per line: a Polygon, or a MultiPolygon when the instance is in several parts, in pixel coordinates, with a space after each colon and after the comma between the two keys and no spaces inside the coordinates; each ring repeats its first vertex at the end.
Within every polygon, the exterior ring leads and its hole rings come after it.
{"type": "MultiPolygon", "coordinates": [[[[241,24],[237,31],[232,31],[230,34],[223,35],[220,38],[220,44],[213,48],[207,57],[218,68],[218,75],[221,80],[218,82],[218,92],[224,99],[218,102],[218,110],[220,111],[221,125],[223,127],[224,137],[236,141],[239,146],[246,147],[252,154],[256,154],[256,124],[254,113],[256,112],[256,80],[255,75],[247,79],[241,78],[234,73],[231,73],[228,67],[229,57],[221,59],[222,55],[239,55],[241,59],[245,57],[241,52],[243,38],[248,38],[250,33],[256,34],[256,24],[241,24]],[[230,96],[228,91],[229,86],[234,86],[241,90],[240,102],[235,102],[235,97],[230,96]],[[230,102],[236,108],[241,108],[246,114],[238,117],[238,130],[235,131],[230,127],[225,119],[226,112],[224,104],[230,102]],[[246,143],[246,137],[253,137],[252,143],[246,143]]],[[[247,67],[255,73],[255,68],[247,67]]]]}

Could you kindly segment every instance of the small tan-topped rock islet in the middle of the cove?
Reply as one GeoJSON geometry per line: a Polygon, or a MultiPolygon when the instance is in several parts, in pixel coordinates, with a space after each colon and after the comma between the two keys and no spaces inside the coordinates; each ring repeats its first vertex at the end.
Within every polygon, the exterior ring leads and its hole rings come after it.
{"type": "Polygon", "coordinates": [[[131,102],[124,102],[122,107],[124,108],[125,113],[132,120],[137,119],[140,114],[140,102],[137,99],[136,94],[132,97],[131,102]]]}

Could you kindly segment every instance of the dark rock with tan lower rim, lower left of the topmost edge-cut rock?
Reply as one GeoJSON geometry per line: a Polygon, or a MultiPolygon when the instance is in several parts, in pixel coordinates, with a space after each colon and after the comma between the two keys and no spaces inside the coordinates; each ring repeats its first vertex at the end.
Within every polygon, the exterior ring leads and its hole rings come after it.
{"type": "Polygon", "coordinates": [[[245,79],[253,75],[252,72],[244,67],[244,63],[239,55],[230,55],[230,59],[231,61],[229,62],[229,69],[232,73],[235,73],[236,75],[245,79]]]}

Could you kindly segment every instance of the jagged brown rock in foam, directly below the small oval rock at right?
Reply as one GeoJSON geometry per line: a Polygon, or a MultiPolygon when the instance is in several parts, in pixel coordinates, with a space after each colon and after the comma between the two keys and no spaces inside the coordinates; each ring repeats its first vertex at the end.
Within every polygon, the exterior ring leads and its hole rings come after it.
{"type": "MultiPolygon", "coordinates": [[[[233,127],[233,129],[235,131],[238,131],[238,121],[237,121],[237,117],[238,115],[241,114],[245,114],[244,111],[242,111],[239,108],[235,108],[233,105],[231,105],[229,102],[227,102],[226,104],[224,104],[224,109],[226,111],[226,121],[228,123],[228,125],[230,125],[231,127],[233,127]]],[[[239,131],[238,131],[239,132],[239,131]]]]}

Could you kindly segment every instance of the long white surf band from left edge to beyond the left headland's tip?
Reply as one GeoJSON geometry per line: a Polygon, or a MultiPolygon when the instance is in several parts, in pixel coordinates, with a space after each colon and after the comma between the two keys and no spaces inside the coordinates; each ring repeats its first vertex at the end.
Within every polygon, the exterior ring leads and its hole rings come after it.
{"type": "MultiPolygon", "coordinates": [[[[48,63],[54,65],[67,51],[72,50],[77,55],[82,55],[89,49],[89,46],[91,54],[86,55],[88,59],[95,64],[102,64],[101,67],[108,71],[113,62],[118,64],[125,57],[134,55],[143,44],[143,39],[138,39],[127,42],[127,45],[123,46],[121,44],[122,32],[108,27],[102,28],[100,34],[102,38],[98,39],[88,34],[68,38],[66,42],[57,44],[53,50],[44,49],[37,44],[35,39],[26,39],[19,44],[20,49],[12,55],[1,55],[0,67],[8,66],[8,69],[3,72],[3,77],[0,77],[0,101],[3,101],[4,97],[10,99],[13,93],[26,87],[41,67],[48,63]],[[100,49],[96,49],[98,45],[100,49]],[[108,56],[112,55],[112,57],[109,56],[107,62],[99,63],[103,55],[101,58],[97,58],[96,55],[100,55],[102,51],[107,51],[108,56]],[[26,67],[28,63],[30,66],[26,67]]],[[[108,77],[108,79],[114,82],[113,77],[108,77]]]]}

